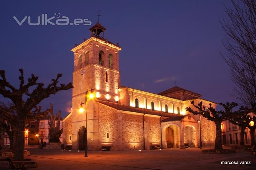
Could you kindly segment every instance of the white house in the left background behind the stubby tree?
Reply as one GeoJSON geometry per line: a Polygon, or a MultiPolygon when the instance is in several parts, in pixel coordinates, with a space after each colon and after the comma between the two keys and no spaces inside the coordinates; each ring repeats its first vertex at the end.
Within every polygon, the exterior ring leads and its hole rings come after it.
{"type": "MultiPolygon", "coordinates": [[[[39,125],[38,125],[38,133],[39,133],[39,138],[42,139],[43,141],[48,143],[49,142],[49,124],[48,124],[47,119],[45,120],[40,120],[39,121],[39,125]]],[[[57,126],[57,122],[55,121],[55,126],[57,126]]],[[[62,121],[60,121],[60,129],[62,128],[62,121]]],[[[62,134],[60,136],[60,142],[63,143],[63,138],[62,138],[62,134]]]]}

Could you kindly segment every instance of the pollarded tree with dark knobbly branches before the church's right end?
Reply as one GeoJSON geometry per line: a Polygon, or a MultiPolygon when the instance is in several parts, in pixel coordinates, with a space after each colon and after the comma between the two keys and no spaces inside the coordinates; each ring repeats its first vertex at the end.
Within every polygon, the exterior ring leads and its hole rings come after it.
{"type": "Polygon", "coordinates": [[[218,103],[219,105],[224,107],[224,111],[216,111],[215,108],[212,107],[212,104],[209,104],[209,107],[206,108],[203,106],[203,101],[200,101],[197,105],[195,105],[195,101],[190,101],[191,104],[198,109],[198,111],[194,111],[190,107],[186,107],[186,110],[192,113],[193,115],[202,115],[207,118],[209,121],[213,121],[216,127],[216,138],[215,138],[215,147],[214,149],[223,149],[222,148],[222,140],[221,140],[221,122],[226,119],[229,115],[233,114],[231,111],[232,108],[236,107],[237,104],[235,102],[232,103],[218,103]]]}

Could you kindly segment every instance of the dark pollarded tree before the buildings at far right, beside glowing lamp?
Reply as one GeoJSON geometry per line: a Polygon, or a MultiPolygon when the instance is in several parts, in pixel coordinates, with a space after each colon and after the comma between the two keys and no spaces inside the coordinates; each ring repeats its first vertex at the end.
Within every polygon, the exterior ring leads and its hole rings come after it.
{"type": "Polygon", "coordinates": [[[238,111],[234,112],[234,114],[229,115],[227,120],[241,128],[241,137],[240,137],[240,145],[244,145],[244,130],[251,122],[251,116],[248,115],[250,113],[250,109],[247,107],[241,106],[238,111]]]}

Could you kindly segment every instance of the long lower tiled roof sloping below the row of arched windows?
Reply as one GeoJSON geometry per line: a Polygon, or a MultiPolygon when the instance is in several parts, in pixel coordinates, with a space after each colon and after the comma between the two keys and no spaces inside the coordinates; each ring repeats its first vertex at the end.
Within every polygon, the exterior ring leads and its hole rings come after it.
{"type": "Polygon", "coordinates": [[[149,110],[149,109],[144,109],[144,108],[136,108],[136,107],[131,107],[131,106],[126,106],[122,104],[117,104],[113,102],[108,102],[108,101],[101,101],[98,100],[99,103],[106,105],[108,107],[112,107],[116,110],[123,110],[123,111],[130,111],[130,112],[136,112],[136,113],[143,113],[143,114],[148,114],[148,115],[158,115],[158,116],[165,116],[165,117],[180,117],[178,114],[174,113],[165,113],[161,111],[154,111],[154,110],[149,110]]]}

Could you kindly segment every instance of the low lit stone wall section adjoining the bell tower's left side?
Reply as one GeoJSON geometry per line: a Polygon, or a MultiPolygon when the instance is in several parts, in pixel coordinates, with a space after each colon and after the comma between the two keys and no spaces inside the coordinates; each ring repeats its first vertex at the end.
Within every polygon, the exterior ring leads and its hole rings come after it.
{"type": "Polygon", "coordinates": [[[69,136],[72,135],[72,115],[69,116],[64,122],[63,122],[63,144],[64,145],[71,145],[72,144],[72,138],[69,140],[69,136]]]}

